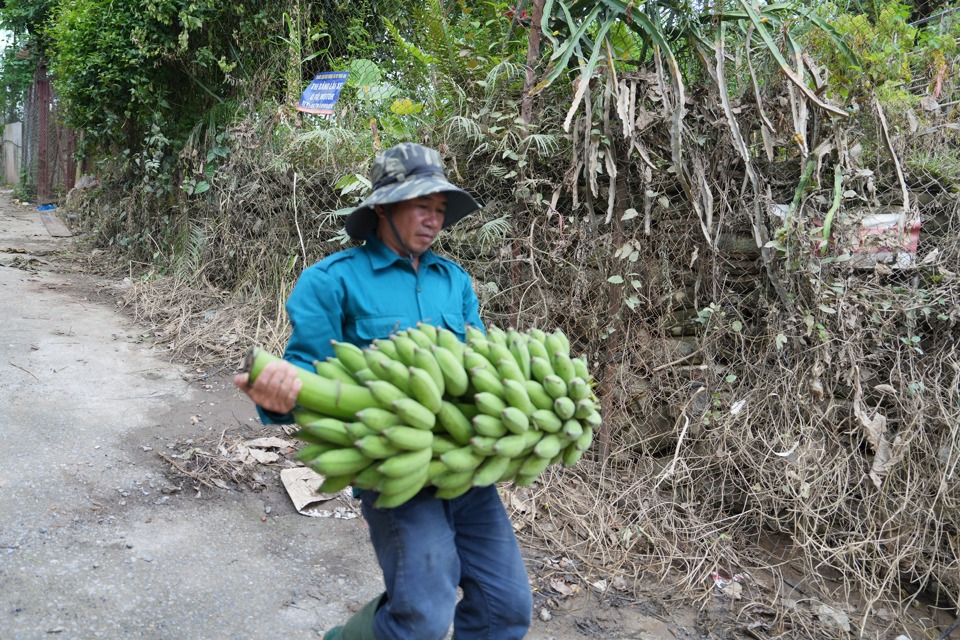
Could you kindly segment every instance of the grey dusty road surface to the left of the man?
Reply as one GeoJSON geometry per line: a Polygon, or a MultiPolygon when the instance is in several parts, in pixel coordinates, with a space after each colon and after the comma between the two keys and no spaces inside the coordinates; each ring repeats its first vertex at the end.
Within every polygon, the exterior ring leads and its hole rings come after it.
{"type": "MultiPolygon", "coordinates": [[[[320,637],[380,590],[362,519],[301,515],[273,472],[171,473],[264,430],[226,375],[172,364],[97,295],[121,283],[58,259],[71,242],[0,193],[0,637],[320,637]]],[[[584,606],[528,637],[702,637],[584,606]]]]}

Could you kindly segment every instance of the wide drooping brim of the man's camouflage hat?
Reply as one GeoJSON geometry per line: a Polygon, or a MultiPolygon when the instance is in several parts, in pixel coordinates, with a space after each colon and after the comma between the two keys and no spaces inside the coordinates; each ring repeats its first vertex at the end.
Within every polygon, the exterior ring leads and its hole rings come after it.
{"type": "Polygon", "coordinates": [[[344,223],[347,235],[354,240],[366,240],[367,236],[377,228],[377,214],[374,207],[378,204],[393,204],[434,193],[447,194],[447,209],[443,216],[444,229],[483,206],[469,193],[441,178],[427,176],[396,182],[377,189],[350,212],[344,223]]]}

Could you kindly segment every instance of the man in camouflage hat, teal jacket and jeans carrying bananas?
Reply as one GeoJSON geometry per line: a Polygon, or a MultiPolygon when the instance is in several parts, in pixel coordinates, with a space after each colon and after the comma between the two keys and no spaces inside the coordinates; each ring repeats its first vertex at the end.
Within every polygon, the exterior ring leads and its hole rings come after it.
{"type": "MultiPolygon", "coordinates": [[[[440,154],[404,143],[374,160],[373,192],[346,220],[364,244],[303,272],[287,301],[293,327],[284,359],[305,369],[332,355],[331,339],[361,347],[425,322],[461,339],[482,327],[470,276],[430,245],[444,227],[480,205],[447,181],[440,154]]],[[[265,422],[290,422],[300,383],[286,362],[268,365],[256,384],[235,379],[265,422]]],[[[532,597],[513,527],[496,486],[453,500],[426,488],[393,509],[376,491],[360,493],[386,591],[327,640],[522,638],[532,597]],[[457,588],[463,598],[457,602],[457,588]]]]}

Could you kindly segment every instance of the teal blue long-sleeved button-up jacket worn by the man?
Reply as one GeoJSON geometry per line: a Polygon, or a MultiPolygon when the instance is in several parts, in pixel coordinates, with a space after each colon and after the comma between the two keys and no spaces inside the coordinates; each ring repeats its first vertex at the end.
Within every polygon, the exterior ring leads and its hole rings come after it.
{"type": "MultiPolygon", "coordinates": [[[[414,271],[376,236],[304,270],[286,309],[293,329],[283,358],[311,371],[315,361],[333,356],[331,340],[366,347],[421,321],[461,340],[468,324],[483,329],[463,267],[427,251],[414,271]]],[[[263,410],[260,416],[267,424],[293,421],[263,410]]]]}

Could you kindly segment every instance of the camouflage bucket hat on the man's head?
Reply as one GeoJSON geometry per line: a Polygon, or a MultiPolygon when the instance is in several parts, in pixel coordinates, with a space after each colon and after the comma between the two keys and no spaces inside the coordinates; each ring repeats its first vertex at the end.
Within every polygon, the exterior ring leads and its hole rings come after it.
{"type": "Polygon", "coordinates": [[[364,240],[377,228],[378,204],[402,202],[432,193],[447,194],[447,212],[443,227],[459,222],[480,204],[463,189],[447,180],[440,154],[423,145],[404,142],[384,151],[373,161],[370,171],[373,193],[347,216],[347,235],[364,240]]]}

